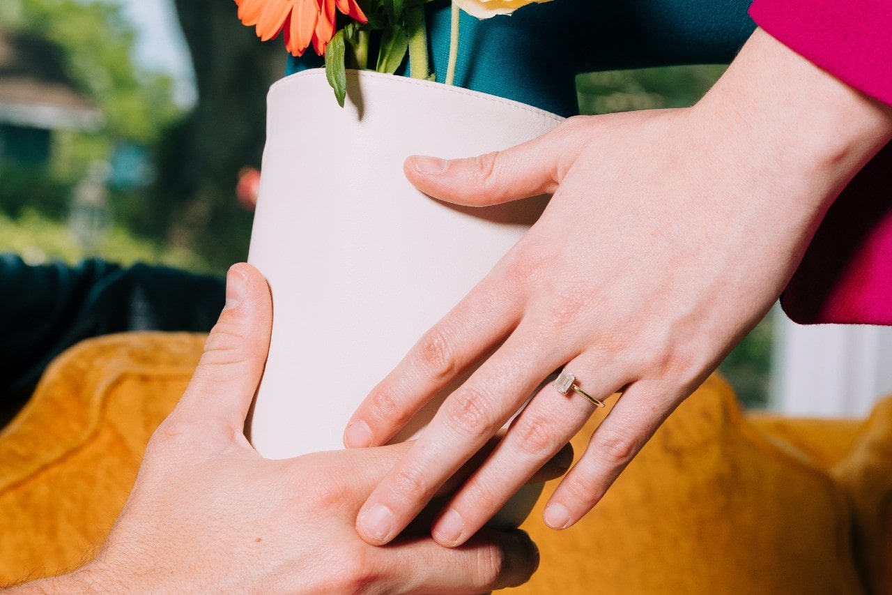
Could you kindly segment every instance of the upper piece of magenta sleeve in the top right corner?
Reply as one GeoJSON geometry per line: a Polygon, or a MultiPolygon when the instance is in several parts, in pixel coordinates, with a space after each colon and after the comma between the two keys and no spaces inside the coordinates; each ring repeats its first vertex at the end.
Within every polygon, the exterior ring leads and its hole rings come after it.
{"type": "Polygon", "coordinates": [[[892,0],[754,0],[749,15],[811,63],[892,105],[892,0]]]}

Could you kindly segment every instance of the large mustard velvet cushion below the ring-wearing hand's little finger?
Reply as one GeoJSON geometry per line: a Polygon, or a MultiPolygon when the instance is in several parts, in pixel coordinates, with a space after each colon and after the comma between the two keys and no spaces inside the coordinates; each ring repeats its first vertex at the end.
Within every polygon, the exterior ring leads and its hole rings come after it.
{"type": "MultiPolygon", "coordinates": [[[[577,453],[603,415],[573,440],[577,453]]],[[[579,524],[549,530],[545,501],[524,525],[539,543],[540,570],[512,592],[863,592],[842,490],[819,465],[765,440],[717,376],[579,524]]]]}

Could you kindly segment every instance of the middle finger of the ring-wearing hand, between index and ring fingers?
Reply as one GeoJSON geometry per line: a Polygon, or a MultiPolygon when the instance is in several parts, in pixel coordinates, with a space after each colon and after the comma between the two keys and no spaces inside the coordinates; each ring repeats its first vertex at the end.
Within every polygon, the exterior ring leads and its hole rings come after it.
{"type": "Polygon", "coordinates": [[[521,326],[453,392],[409,454],[369,496],[357,531],[373,545],[391,541],[440,486],[516,414],[555,364],[521,326]],[[517,373],[522,370],[524,373],[517,373]]]}

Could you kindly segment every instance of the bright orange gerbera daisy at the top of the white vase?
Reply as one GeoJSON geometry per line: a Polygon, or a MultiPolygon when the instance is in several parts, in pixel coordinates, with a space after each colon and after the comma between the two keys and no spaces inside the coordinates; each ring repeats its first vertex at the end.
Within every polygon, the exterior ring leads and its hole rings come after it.
{"type": "Polygon", "coordinates": [[[335,7],[356,21],[368,22],[356,0],[235,0],[238,19],[255,26],[262,41],[285,31],[285,48],[293,55],[313,45],[319,55],[335,36],[335,7]]]}

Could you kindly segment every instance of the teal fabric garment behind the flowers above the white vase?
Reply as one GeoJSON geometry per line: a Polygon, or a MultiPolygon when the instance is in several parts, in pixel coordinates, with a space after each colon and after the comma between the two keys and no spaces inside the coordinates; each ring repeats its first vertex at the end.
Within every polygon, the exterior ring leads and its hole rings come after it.
{"type": "MultiPolygon", "coordinates": [[[[455,84],[563,116],[578,113],[577,74],[730,63],[756,25],[749,0],[552,0],[480,21],[462,13],[455,84]]],[[[432,70],[443,80],[450,3],[428,4],[432,70]]],[[[287,73],[322,64],[312,49],[287,73]]]]}

